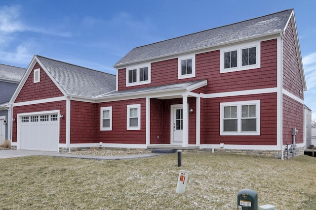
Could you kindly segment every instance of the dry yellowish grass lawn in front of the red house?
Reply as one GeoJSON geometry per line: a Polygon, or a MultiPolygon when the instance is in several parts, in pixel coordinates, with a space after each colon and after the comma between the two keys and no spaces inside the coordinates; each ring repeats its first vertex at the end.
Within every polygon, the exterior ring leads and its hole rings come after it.
{"type": "Polygon", "coordinates": [[[236,210],[250,188],[259,205],[316,210],[316,158],[289,160],[220,153],[183,153],[131,160],[59,157],[0,159],[0,209],[236,210]],[[189,171],[184,194],[179,170],[189,171]]]}

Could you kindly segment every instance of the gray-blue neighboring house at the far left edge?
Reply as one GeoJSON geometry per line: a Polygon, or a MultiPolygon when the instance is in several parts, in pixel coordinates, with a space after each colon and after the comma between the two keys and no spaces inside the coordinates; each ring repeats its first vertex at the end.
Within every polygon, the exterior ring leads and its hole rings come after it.
{"type": "Polygon", "coordinates": [[[11,109],[8,106],[25,68],[0,64],[0,145],[11,139],[11,109]]]}

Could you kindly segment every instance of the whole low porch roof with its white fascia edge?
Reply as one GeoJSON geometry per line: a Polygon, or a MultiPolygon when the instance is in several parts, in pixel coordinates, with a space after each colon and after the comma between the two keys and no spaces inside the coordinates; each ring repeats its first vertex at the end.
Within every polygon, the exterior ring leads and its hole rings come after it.
{"type": "Polygon", "coordinates": [[[120,97],[126,95],[142,95],[142,94],[150,94],[150,93],[162,93],[162,92],[170,92],[177,90],[196,90],[203,86],[207,85],[207,80],[198,80],[192,82],[183,82],[183,83],[175,83],[170,85],[162,85],[162,86],[154,86],[154,87],[146,87],[146,88],[135,88],[130,90],[121,90],[121,91],[112,91],[102,95],[97,96],[97,98],[105,98],[105,97],[120,97]]]}

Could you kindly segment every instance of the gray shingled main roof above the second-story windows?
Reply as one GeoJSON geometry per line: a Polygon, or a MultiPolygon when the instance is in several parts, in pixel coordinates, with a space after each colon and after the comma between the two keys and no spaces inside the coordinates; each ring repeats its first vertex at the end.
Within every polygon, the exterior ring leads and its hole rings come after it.
{"type": "Polygon", "coordinates": [[[285,29],[292,11],[293,9],[288,9],[259,18],[136,47],[114,66],[118,67],[141,60],[159,58],[249,37],[281,32],[285,29]]]}

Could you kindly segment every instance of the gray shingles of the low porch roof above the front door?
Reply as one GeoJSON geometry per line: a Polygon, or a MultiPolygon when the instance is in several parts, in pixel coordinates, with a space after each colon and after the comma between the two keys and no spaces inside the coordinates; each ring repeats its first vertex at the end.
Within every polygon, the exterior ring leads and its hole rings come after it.
{"type": "Polygon", "coordinates": [[[192,82],[183,82],[183,83],[176,83],[176,84],[170,84],[170,85],[162,85],[162,86],[154,86],[154,87],[146,87],[146,88],[135,88],[135,89],[129,89],[129,90],[120,90],[120,91],[112,91],[108,92],[102,95],[99,95],[98,97],[107,97],[107,96],[121,96],[126,94],[133,94],[133,93],[144,93],[147,94],[149,92],[153,91],[173,91],[173,90],[184,90],[192,85],[196,85],[197,83],[200,83],[205,80],[198,80],[198,81],[192,81],[192,82]]]}

